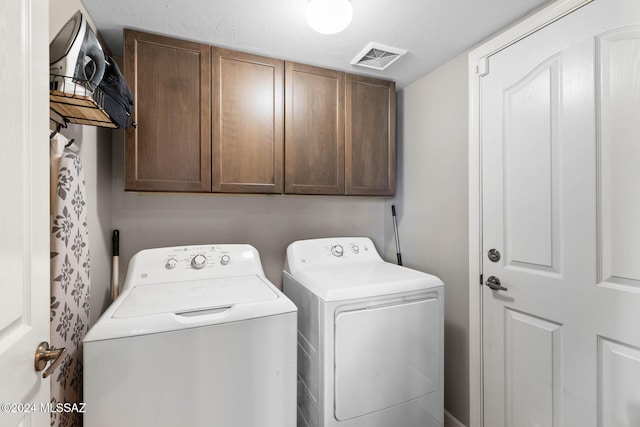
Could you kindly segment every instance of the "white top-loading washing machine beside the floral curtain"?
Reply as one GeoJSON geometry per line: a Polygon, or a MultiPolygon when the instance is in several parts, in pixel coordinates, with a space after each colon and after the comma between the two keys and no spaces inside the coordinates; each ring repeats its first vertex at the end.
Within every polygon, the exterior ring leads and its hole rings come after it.
{"type": "Polygon", "coordinates": [[[84,339],[84,425],[294,427],[296,314],[252,246],[137,253],[84,339]]]}

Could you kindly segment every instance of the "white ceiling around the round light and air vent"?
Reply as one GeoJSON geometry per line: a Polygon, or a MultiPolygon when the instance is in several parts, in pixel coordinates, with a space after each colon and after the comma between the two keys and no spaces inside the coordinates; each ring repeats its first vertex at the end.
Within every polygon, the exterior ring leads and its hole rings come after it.
{"type": "Polygon", "coordinates": [[[307,25],[308,0],[82,2],[116,55],[126,27],[395,80],[400,89],[549,0],[351,0],[353,21],[334,35],[307,25]],[[408,53],[384,71],[351,65],[371,41],[408,53]]]}

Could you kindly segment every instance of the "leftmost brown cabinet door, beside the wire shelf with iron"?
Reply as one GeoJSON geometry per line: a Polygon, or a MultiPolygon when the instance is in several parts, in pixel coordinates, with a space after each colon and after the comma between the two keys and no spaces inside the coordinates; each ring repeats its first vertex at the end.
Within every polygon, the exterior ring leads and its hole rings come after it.
{"type": "Polygon", "coordinates": [[[127,190],[211,191],[211,48],[125,30],[127,190]]]}

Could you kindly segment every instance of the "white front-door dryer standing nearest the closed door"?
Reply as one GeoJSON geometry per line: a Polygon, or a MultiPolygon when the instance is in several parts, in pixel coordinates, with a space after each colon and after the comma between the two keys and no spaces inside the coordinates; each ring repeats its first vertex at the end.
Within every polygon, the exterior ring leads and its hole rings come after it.
{"type": "Polygon", "coordinates": [[[387,263],[368,238],[294,242],[298,427],[440,427],[444,288],[387,263]]]}

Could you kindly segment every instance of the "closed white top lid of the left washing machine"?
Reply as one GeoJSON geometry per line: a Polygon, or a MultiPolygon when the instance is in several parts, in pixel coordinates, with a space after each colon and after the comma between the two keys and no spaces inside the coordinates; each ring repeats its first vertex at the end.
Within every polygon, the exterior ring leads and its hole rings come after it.
{"type": "Polygon", "coordinates": [[[252,275],[139,285],[124,298],[114,318],[185,314],[274,300],[278,295],[259,276],[252,275]]]}

